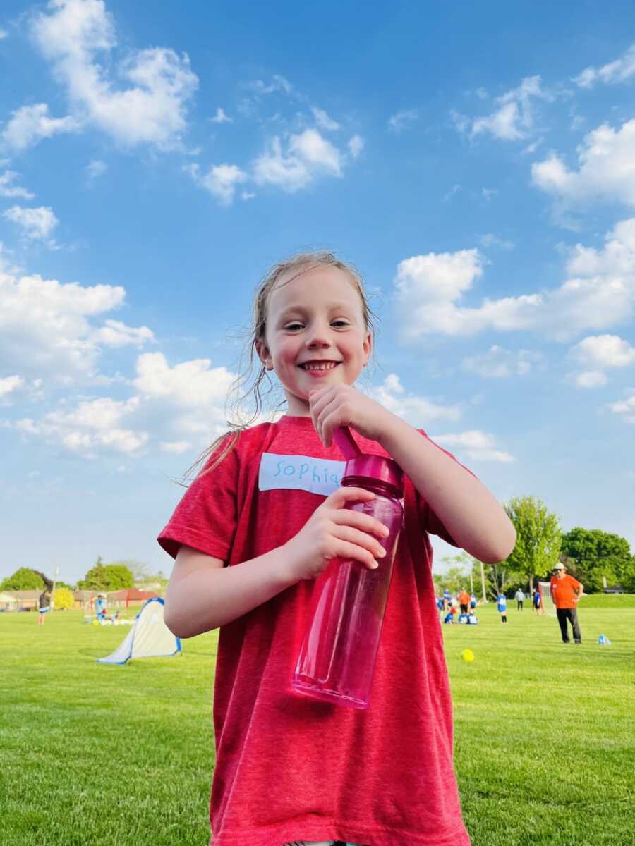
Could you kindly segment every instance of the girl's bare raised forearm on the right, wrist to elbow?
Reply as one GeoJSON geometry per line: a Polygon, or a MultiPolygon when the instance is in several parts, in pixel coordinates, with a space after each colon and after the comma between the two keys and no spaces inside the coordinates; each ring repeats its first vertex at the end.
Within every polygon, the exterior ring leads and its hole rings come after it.
{"type": "Polygon", "coordinates": [[[507,558],[516,543],[516,530],[494,495],[405,420],[391,416],[391,425],[378,442],[410,476],[450,536],[483,563],[507,558]]]}

